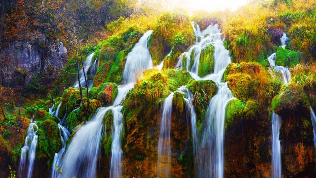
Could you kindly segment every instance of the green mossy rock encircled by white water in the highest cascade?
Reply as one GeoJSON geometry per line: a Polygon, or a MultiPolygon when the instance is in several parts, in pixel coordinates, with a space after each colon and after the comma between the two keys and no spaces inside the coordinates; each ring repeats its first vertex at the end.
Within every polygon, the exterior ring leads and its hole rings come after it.
{"type": "Polygon", "coordinates": [[[198,75],[204,77],[207,74],[214,72],[214,46],[209,45],[202,49],[200,55],[200,62],[198,65],[198,75]]]}

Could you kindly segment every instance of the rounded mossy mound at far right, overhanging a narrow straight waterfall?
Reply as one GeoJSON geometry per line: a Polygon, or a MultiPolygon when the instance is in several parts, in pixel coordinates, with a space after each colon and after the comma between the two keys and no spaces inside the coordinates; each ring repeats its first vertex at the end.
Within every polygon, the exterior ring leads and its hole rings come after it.
{"type": "Polygon", "coordinates": [[[293,83],[282,86],[280,92],[273,98],[271,107],[281,116],[309,113],[307,95],[299,85],[293,83]]]}

